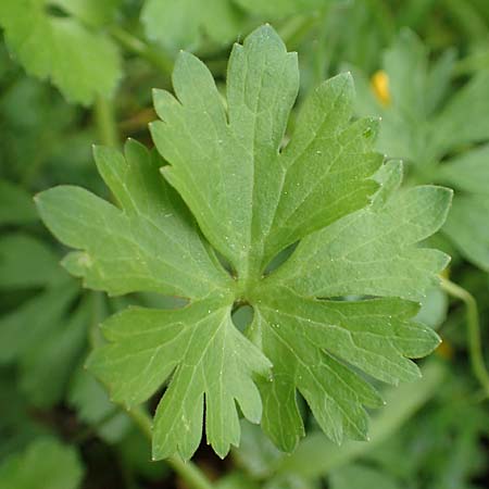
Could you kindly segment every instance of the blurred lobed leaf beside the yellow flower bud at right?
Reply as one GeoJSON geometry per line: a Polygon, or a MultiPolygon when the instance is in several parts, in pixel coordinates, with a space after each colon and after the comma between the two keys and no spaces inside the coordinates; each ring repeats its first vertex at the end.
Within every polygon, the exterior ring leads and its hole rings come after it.
{"type": "Polygon", "coordinates": [[[488,73],[476,73],[453,92],[453,52],[429,63],[427,48],[406,30],[386,52],[384,68],[390,99],[384,104],[356,73],[359,114],[376,110],[383,117],[378,148],[410,161],[414,181],[455,189],[443,231],[465,259],[489,269],[488,73]]]}

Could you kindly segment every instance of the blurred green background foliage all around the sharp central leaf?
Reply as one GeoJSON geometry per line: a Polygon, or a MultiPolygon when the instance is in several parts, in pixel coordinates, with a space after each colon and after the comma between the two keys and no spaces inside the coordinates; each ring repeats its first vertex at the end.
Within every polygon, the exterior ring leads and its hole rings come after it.
{"type": "Polygon", "coordinates": [[[489,2],[3,0],[0,489],[190,487],[149,462],[147,439],[83,368],[108,314],[172,300],[83,290],[59,265],[63,250],[32,196],[61,183],[106,196],[91,145],[150,145],[151,89],[171,89],[178,50],[199,55],[224,87],[233,42],[265,22],[299,52],[298,106],[350,70],[356,113],[383,118],[378,149],[403,161],[405,185],[455,190],[434,238],[452,262],[421,311],[443,343],[422,363],[422,380],[386,392],[367,443],[334,446],[304,408],[308,437],[293,454],[243,423],[228,460],[203,446],[196,463],[220,489],[489,487],[489,2]]]}

